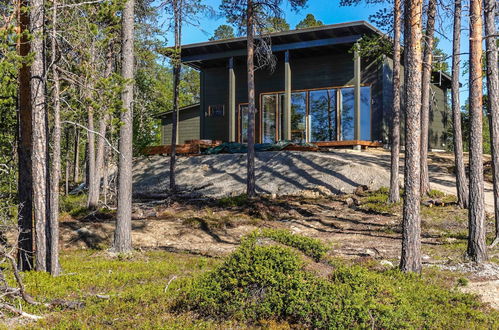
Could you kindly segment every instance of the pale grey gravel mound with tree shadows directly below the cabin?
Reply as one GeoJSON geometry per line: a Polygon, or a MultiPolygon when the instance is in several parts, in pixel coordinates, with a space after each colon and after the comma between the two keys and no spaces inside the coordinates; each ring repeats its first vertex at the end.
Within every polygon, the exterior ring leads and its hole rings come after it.
{"type": "MultiPolygon", "coordinates": [[[[257,153],[257,191],[276,195],[351,193],[360,185],[388,186],[386,163],[368,152],[276,151],[257,153]]],[[[204,196],[238,195],[246,190],[246,154],[179,157],[177,184],[204,196]]],[[[169,157],[142,157],[134,164],[136,196],[165,193],[169,157]]]]}

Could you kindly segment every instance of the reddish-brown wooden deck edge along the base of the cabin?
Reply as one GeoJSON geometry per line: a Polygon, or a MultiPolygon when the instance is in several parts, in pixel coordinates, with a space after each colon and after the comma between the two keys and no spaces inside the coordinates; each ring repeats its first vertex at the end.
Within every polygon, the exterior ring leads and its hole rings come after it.
{"type": "MultiPolygon", "coordinates": [[[[177,144],[176,154],[177,155],[200,155],[204,150],[212,147],[216,147],[222,144],[222,141],[218,140],[189,140],[185,144],[177,144]]],[[[381,142],[373,141],[363,141],[363,140],[351,140],[351,141],[325,141],[325,142],[314,142],[311,145],[300,146],[300,145],[289,145],[284,150],[293,151],[319,151],[321,148],[347,148],[354,146],[361,146],[365,148],[378,148],[383,147],[381,142]]],[[[146,147],[142,151],[144,155],[169,155],[171,153],[171,145],[161,145],[146,147]]]]}

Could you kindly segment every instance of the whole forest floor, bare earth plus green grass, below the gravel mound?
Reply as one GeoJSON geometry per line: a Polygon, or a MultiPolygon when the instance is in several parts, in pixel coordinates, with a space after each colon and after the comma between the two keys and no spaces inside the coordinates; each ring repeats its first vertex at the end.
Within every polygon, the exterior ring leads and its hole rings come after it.
{"type": "MultiPolygon", "coordinates": [[[[376,153],[369,154],[377,157],[376,153]]],[[[437,166],[445,174],[451,171],[452,160],[432,155],[430,168],[437,166]]],[[[114,233],[113,210],[89,212],[85,195],[67,196],[60,219],[63,275],[52,278],[30,272],[23,277],[26,291],[39,301],[81,304],[69,309],[25,306],[26,311],[44,318],[33,323],[4,315],[0,322],[5,328],[247,328],[231,320],[178,314],[171,306],[182,279],[214,269],[244,235],[262,228],[317,238],[330,248],[329,257],[346,263],[374,271],[397,268],[402,204],[388,204],[386,188],[357,186],[342,194],[313,185],[301,188],[305,189],[292,196],[270,193],[254,200],[245,195],[199,196],[192,190],[176,197],[137,199],[132,217],[135,252],[130,256],[108,251],[114,233]]],[[[439,190],[432,190],[423,200],[423,278],[475,294],[497,310],[499,248],[489,251],[490,261],[484,265],[466,260],[467,212],[455,201],[455,196],[439,190]]],[[[490,244],[491,214],[486,224],[490,244]]],[[[288,325],[272,323],[268,328],[286,329],[288,325]]]]}

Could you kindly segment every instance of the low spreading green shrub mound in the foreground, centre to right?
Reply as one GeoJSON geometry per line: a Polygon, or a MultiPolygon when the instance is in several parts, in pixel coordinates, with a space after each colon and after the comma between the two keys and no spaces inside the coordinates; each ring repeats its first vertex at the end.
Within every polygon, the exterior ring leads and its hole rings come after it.
{"type": "MultiPolygon", "coordinates": [[[[339,265],[329,277],[319,277],[305,270],[306,261],[292,248],[262,242],[262,236],[282,243],[286,235],[248,236],[215,270],[184,281],[174,308],[209,319],[277,320],[310,328],[499,326],[498,314],[484,311],[471,295],[398,270],[339,265]]],[[[289,240],[296,244],[296,238],[289,240]]]]}

